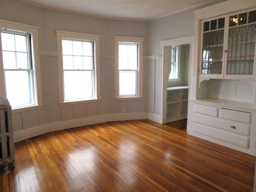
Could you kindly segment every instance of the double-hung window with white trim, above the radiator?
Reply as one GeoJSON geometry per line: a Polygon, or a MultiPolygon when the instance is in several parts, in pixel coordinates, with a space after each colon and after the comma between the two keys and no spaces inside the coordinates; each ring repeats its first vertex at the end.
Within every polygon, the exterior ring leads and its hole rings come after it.
{"type": "Polygon", "coordinates": [[[38,28],[4,20],[0,24],[0,71],[4,82],[1,95],[8,99],[12,109],[38,106],[41,103],[38,28]]]}

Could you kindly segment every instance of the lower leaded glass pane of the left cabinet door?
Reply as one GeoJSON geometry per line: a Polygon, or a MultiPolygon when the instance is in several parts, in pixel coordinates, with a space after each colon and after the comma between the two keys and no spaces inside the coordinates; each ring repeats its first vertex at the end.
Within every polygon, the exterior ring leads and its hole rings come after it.
{"type": "Polygon", "coordinates": [[[202,74],[221,74],[224,29],[205,32],[202,46],[202,74]]]}

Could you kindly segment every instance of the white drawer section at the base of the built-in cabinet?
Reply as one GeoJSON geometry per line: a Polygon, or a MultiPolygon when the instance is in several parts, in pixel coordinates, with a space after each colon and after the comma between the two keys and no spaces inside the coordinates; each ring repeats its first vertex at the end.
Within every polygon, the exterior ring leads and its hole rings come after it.
{"type": "MultiPolygon", "coordinates": [[[[218,101],[215,99],[215,101],[218,101]]],[[[220,103],[205,102],[204,100],[189,101],[188,134],[196,136],[241,152],[256,156],[256,111],[254,109],[237,108],[220,103]],[[198,106],[209,106],[204,112],[198,112],[198,106]],[[218,115],[211,116],[211,108],[218,108],[218,115]],[[238,122],[221,117],[221,110],[236,111],[241,114],[250,114],[250,122],[238,122]],[[209,110],[209,111],[208,111],[209,110]]],[[[246,115],[248,118],[248,116],[246,115]]],[[[248,120],[248,119],[247,119],[248,120]]]]}

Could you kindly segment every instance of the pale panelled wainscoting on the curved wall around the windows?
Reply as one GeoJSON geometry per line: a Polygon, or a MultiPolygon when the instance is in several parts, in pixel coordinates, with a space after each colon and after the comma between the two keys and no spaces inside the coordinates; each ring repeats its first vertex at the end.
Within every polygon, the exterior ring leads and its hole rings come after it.
{"type": "Polygon", "coordinates": [[[40,52],[42,107],[13,112],[16,141],[90,123],[146,119],[148,112],[155,115],[160,107],[160,74],[155,74],[160,73],[160,57],[146,56],[143,62],[142,99],[114,99],[114,56],[100,56],[100,100],[60,105],[57,53],[40,52]]]}

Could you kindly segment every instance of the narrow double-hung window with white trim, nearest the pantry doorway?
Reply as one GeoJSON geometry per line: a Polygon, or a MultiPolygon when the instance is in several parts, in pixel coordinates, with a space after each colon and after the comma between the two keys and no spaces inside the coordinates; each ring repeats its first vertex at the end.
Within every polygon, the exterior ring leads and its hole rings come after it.
{"type": "Polygon", "coordinates": [[[142,97],[143,38],[114,36],[115,98],[142,97]]]}

